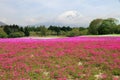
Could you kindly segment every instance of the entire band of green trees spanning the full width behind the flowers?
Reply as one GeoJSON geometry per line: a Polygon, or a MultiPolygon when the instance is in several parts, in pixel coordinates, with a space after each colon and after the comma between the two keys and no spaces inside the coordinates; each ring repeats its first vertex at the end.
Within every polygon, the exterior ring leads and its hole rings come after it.
{"type": "Polygon", "coordinates": [[[24,37],[24,36],[80,36],[80,35],[104,35],[120,34],[120,24],[115,18],[94,19],[89,27],[70,26],[25,26],[4,25],[0,26],[0,37],[24,37]]]}

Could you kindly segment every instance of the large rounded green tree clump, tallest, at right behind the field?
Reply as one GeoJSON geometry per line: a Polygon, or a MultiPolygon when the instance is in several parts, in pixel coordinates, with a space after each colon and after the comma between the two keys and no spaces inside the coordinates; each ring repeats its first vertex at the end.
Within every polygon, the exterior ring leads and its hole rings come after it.
{"type": "Polygon", "coordinates": [[[89,34],[113,34],[118,20],[115,18],[95,19],[88,28],[89,34]]]}

